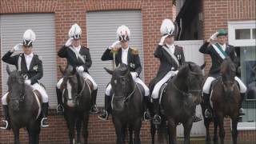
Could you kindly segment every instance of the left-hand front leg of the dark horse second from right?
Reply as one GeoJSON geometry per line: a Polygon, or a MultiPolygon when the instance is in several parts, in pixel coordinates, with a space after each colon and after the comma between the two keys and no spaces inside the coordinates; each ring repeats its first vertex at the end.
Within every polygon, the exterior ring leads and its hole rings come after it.
{"type": "Polygon", "coordinates": [[[177,144],[176,124],[173,118],[168,118],[168,134],[169,134],[169,144],[177,144]]]}

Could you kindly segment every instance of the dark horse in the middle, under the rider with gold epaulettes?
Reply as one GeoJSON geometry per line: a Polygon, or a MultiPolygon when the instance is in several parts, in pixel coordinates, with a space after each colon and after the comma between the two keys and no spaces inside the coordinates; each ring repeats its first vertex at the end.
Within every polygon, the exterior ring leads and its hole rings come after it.
{"type": "Polygon", "coordinates": [[[112,74],[111,86],[114,90],[112,100],[112,118],[117,144],[125,143],[127,128],[129,128],[130,144],[140,144],[142,127],[142,93],[134,82],[128,66],[121,64],[114,71],[105,70],[112,74]],[[134,139],[133,139],[134,133],[134,139]]]}

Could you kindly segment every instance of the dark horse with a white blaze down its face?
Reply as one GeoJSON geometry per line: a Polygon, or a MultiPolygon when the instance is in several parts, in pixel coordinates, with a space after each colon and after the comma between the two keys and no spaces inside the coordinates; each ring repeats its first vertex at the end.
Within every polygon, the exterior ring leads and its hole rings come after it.
{"type": "Polygon", "coordinates": [[[81,127],[84,143],[87,143],[91,107],[90,84],[72,66],[67,66],[66,70],[60,67],[60,70],[63,74],[61,90],[64,98],[64,118],[69,129],[70,144],[75,143],[74,126],[77,128],[77,143],[81,143],[81,127]]]}

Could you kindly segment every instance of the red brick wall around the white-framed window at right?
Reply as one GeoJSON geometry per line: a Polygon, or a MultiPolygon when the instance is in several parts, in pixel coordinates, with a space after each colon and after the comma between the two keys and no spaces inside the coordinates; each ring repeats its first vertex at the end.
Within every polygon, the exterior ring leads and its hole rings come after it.
{"type": "MultiPolygon", "coordinates": [[[[227,22],[229,21],[246,21],[255,20],[255,0],[204,0],[203,1],[203,28],[204,39],[210,38],[218,29],[227,30],[227,22]]],[[[211,59],[209,56],[205,57],[206,74],[210,70],[211,59]]],[[[226,139],[231,139],[230,134],[230,119],[225,120],[226,139]]],[[[213,126],[211,126],[211,134],[213,126]]],[[[239,131],[238,139],[242,141],[256,141],[256,130],[239,131]]]]}

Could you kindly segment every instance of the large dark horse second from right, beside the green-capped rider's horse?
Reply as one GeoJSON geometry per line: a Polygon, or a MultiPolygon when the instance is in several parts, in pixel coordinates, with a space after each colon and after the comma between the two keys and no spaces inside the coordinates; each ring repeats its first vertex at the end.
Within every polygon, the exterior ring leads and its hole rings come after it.
{"type": "MultiPolygon", "coordinates": [[[[202,69],[194,62],[185,62],[178,74],[166,86],[162,96],[162,123],[158,126],[158,137],[168,138],[170,144],[176,144],[176,127],[184,127],[184,143],[190,143],[190,130],[196,105],[201,102],[203,82],[202,69]],[[167,123],[166,123],[167,122],[167,123]]],[[[154,144],[155,126],[151,122],[152,144],[154,144]]],[[[158,138],[158,141],[165,142],[158,138]]]]}

